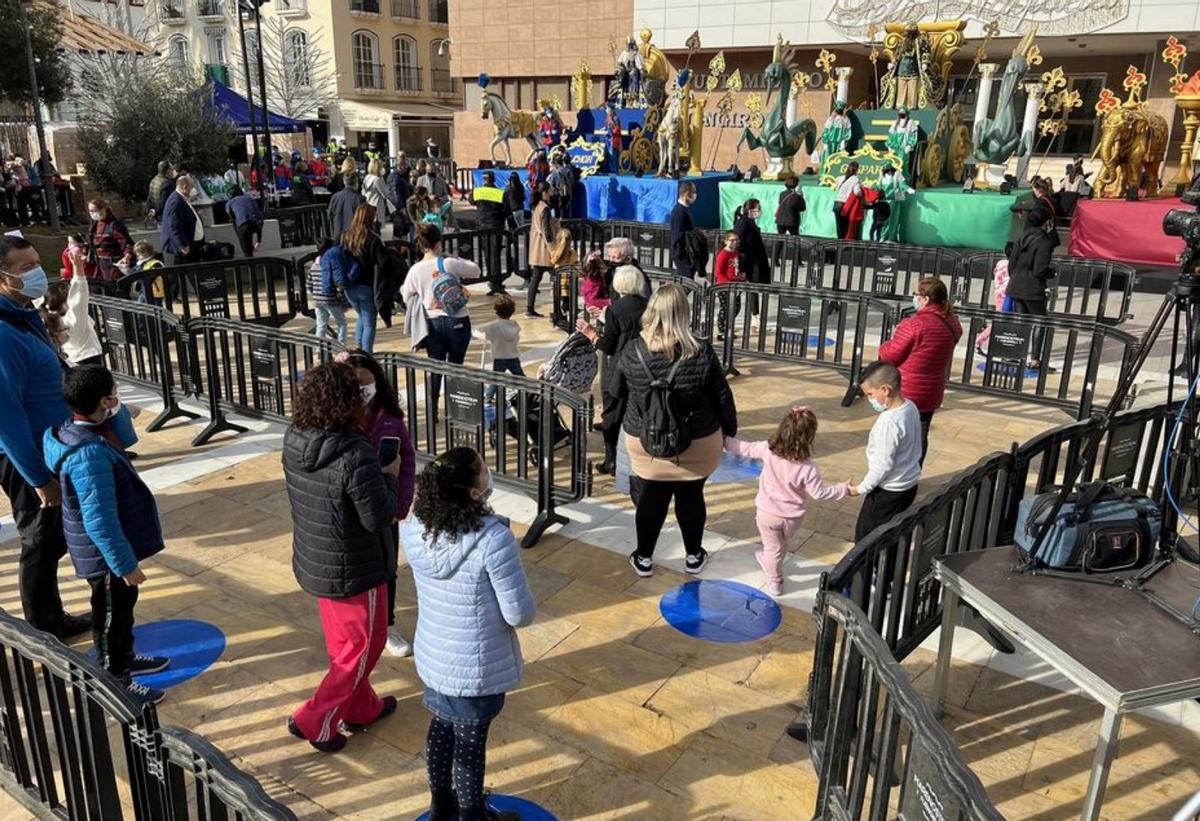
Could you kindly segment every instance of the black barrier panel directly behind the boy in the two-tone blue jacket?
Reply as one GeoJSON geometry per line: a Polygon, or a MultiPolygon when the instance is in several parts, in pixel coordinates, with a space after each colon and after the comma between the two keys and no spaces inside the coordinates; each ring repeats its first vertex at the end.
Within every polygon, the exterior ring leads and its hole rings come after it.
{"type": "Polygon", "coordinates": [[[108,367],[130,382],[158,392],[162,412],[146,427],[154,432],[172,419],[196,419],[180,407],[194,394],[193,356],[184,325],[164,307],[127,299],[92,296],[88,306],[108,367]]]}

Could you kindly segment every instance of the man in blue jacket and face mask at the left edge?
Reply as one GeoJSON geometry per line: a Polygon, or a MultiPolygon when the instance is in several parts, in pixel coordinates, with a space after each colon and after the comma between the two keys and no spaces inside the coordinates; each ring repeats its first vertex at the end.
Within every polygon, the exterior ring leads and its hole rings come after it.
{"type": "Polygon", "coordinates": [[[19,587],[25,621],[66,639],[91,629],[67,616],[59,595],[62,491],[42,459],[42,436],[70,415],[62,401],[64,365],[34,300],[46,294],[37,250],[20,236],[0,236],[0,486],[20,533],[19,587]]]}

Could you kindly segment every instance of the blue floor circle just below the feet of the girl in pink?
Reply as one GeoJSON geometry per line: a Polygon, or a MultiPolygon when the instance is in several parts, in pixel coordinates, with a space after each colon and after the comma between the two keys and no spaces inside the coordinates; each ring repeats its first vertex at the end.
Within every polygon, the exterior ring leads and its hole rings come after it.
{"type": "Polygon", "coordinates": [[[659,612],[680,633],[704,641],[755,641],[775,631],[784,613],[775,601],[734,581],[691,581],[664,594],[659,612]]]}

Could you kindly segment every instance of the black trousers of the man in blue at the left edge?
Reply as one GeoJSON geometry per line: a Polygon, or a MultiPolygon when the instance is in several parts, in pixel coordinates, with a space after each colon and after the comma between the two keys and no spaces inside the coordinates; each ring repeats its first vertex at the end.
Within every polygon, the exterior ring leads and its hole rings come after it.
{"type": "Polygon", "coordinates": [[[38,630],[55,633],[62,619],[59,597],[59,561],[66,556],[62,508],[43,508],[37,492],[0,454],[0,486],[12,503],[20,533],[19,586],[25,621],[38,630]]]}

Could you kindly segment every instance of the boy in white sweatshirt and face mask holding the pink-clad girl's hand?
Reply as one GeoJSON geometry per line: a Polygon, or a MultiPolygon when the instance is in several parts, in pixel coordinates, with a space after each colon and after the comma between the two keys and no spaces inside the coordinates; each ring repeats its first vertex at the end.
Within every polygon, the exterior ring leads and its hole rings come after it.
{"type": "Polygon", "coordinates": [[[859,384],[880,414],[866,441],[866,475],[851,496],[865,496],[854,523],[854,541],[907,510],[917,498],[920,479],[920,413],[900,392],[900,371],[889,362],[871,362],[859,384]]]}

